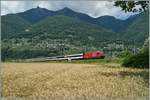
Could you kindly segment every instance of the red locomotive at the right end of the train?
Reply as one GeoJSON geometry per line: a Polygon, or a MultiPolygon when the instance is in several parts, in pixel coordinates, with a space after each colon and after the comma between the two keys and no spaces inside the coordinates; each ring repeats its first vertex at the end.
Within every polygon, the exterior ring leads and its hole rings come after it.
{"type": "Polygon", "coordinates": [[[91,51],[83,53],[83,59],[104,58],[105,54],[102,51],[91,51]]]}

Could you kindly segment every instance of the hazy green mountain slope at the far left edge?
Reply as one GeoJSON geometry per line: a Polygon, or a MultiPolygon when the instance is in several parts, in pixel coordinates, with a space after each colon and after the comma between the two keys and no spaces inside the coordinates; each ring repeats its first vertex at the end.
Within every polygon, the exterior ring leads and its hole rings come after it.
{"type": "Polygon", "coordinates": [[[7,38],[30,26],[30,23],[16,14],[8,14],[1,17],[1,36],[7,38]]]}

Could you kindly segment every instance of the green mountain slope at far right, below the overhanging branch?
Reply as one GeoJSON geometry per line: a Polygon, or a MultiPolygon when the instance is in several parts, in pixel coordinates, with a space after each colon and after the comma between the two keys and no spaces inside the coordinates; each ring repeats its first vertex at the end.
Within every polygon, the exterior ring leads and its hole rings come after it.
{"type": "Polygon", "coordinates": [[[149,37],[149,11],[139,14],[138,18],[122,32],[122,38],[144,43],[149,37]]]}

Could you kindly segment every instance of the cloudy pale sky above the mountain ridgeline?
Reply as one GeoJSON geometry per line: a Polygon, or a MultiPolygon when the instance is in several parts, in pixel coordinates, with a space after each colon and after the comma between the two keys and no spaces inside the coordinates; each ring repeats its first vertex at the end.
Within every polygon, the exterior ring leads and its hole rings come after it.
{"type": "Polygon", "coordinates": [[[104,15],[114,16],[117,19],[126,19],[133,13],[125,13],[120,7],[113,6],[110,1],[1,1],[1,15],[23,12],[40,6],[52,11],[68,7],[76,12],[88,14],[91,17],[104,15]]]}

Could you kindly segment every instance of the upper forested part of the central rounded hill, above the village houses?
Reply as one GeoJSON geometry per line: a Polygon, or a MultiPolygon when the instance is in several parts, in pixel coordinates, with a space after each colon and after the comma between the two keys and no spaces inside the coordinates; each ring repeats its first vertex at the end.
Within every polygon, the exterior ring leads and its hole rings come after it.
{"type": "Polygon", "coordinates": [[[93,38],[93,40],[111,39],[115,37],[115,34],[110,30],[63,15],[49,16],[27,28],[27,30],[28,31],[23,31],[20,34],[14,35],[15,38],[44,36],[44,39],[72,39],[75,41],[88,41],[88,37],[93,38]]]}

